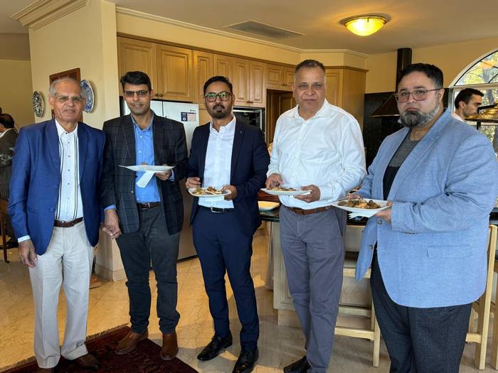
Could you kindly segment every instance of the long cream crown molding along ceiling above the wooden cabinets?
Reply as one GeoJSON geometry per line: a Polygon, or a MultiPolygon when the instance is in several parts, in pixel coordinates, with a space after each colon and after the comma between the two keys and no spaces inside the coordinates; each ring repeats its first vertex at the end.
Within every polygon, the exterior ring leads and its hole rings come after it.
{"type": "Polygon", "coordinates": [[[189,28],[191,30],[201,31],[203,33],[211,33],[211,34],[218,35],[218,36],[225,36],[226,38],[244,40],[244,41],[248,41],[250,43],[256,43],[256,44],[260,44],[260,45],[267,45],[267,46],[274,47],[274,48],[289,50],[289,51],[295,52],[295,53],[337,53],[337,54],[346,53],[346,54],[350,54],[350,55],[357,55],[357,56],[363,57],[363,58],[367,58],[369,56],[369,55],[366,55],[365,53],[360,53],[360,52],[356,52],[354,50],[349,50],[349,49],[302,49],[302,48],[291,47],[289,45],[274,43],[272,41],[261,40],[258,38],[251,38],[250,36],[238,35],[235,33],[229,33],[228,31],[216,30],[214,28],[208,28],[205,26],[194,25],[194,23],[178,21],[176,19],[166,18],[163,16],[156,16],[154,14],[144,13],[142,11],[135,11],[134,9],[122,8],[121,6],[116,6],[116,13],[124,14],[127,16],[134,16],[134,17],[138,17],[138,18],[144,18],[144,19],[148,19],[149,21],[166,23],[166,24],[169,24],[172,26],[189,28]]]}

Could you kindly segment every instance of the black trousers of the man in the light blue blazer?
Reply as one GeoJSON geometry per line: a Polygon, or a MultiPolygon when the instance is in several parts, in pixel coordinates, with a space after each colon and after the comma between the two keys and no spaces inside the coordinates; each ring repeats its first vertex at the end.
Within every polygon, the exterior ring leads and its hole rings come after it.
{"type": "Polygon", "coordinates": [[[373,254],[373,305],[391,358],[391,373],[457,373],[465,347],[472,303],[413,308],[388,296],[373,254]]]}

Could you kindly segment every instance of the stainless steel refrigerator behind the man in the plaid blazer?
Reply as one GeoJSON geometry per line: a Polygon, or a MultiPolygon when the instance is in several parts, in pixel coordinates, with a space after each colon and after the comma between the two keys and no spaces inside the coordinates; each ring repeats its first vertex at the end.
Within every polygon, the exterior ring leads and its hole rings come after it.
{"type": "MultiPolygon", "coordinates": [[[[126,102],[121,98],[121,115],[129,114],[126,102]]],[[[190,153],[192,134],[194,129],[199,125],[198,104],[186,104],[184,102],[157,101],[152,100],[150,108],[154,114],[179,121],[184,124],[186,144],[190,153]]],[[[193,198],[185,188],[184,180],[180,182],[181,194],[184,198],[184,227],[180,234],[180,247],[178,259],[188,258],[196,255],[194,242],[192,242],[192,229],[190,226],[190,212],[193,198]]]]}

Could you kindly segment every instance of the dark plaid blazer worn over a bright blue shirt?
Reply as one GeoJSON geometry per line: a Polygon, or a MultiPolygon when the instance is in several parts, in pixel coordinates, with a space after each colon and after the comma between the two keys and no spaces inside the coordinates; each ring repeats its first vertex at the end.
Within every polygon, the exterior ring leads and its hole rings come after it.
{"type": "MultiPolygon", "coordinates": [[[[105,121],[106,144],[100,195],[105,208],[116,205],[123,233],[137,232],[139,216],[134,195],[136,173],[120,166],[137,163],[133,121],[130,115],[105,121]]],[[[154,114],[154,159],[160,166],[166,163],[174,168],[174,181],[155,178],[159,188],[162,212],[169,234],[181,231],[184,222],[184,207],[179,181],[185,178],[187,148],[184,125],[178,121],[154,114]]]]}

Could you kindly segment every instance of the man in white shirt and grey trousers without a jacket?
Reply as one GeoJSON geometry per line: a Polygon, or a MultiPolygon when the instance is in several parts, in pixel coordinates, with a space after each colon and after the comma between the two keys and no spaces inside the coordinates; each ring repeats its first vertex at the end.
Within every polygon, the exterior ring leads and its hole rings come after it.
{"type": "Polygon", "coordinates": [[[339,311],[346,215],[331,206],[361,183],[365,156],[354,117],[325,99],[325,68],[297,65],[297,107],[277,120],[266,187],[310,190],[280,196],[280,245],[287,282],[304,336],[306,355],[284,372],[327,371],[339,311]]]}

